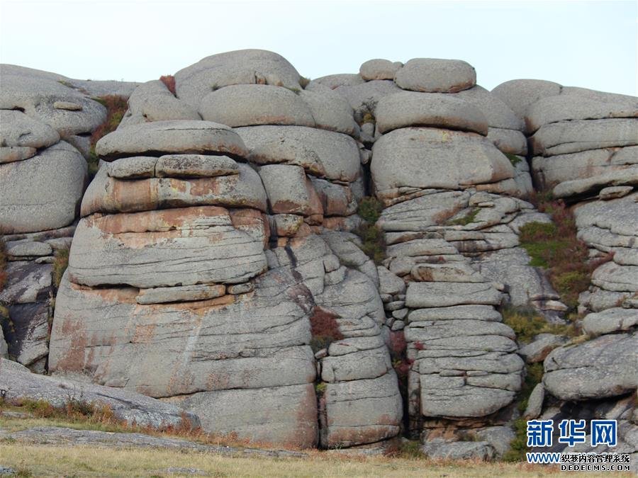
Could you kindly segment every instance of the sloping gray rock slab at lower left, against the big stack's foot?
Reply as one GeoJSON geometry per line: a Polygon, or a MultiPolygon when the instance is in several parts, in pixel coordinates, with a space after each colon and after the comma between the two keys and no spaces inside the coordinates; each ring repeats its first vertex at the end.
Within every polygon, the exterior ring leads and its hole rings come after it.
{"type": "Polygon", "coordinates": [[[65,406],[69,398],[74,398],[108,405],[118,419],[128,423],[135,422],[139,426],[179,426],[183,416],[192,426],[199,426],[198,417],[189,412],[184,413],[179,406],[129,390],[38,375],[4,358],[0,358],[0,388],[7,390],[8,400],[45,400],[53,406],[65,406]]]}

